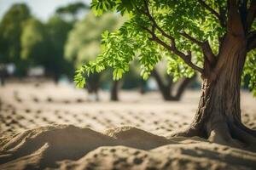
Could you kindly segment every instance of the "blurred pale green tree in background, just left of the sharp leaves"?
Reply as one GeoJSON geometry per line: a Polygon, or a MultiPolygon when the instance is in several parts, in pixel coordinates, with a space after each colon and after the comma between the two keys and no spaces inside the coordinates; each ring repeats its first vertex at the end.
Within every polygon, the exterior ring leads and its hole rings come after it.
{"type": "MultiPolygon", "coordinates": [[[[66,59],[74,62],[75,66],[80,66],[81,63],[95,59],[101,53],[102,32],[117,29],[119,22],[120,19],[114,14],[104,14],[102,17],[96,17],[91,13],[87,14],[84,20],[79,21],[74,26],[68,36],[65,47],[66,59]]],[[[99,73],[88,77],[87,89],[90,94],[96,94],[97,96],[100,78],[101,74],[99,73]]],[[[113,86],[113,88],[118,88],[118,86],[113,86]]],[[[112,91],[116,91],[116,89],[112,91]]]]}

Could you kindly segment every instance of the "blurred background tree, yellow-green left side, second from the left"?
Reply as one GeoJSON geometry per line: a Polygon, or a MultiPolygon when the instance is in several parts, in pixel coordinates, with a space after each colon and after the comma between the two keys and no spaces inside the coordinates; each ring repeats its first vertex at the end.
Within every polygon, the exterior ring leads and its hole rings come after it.
{"type": "Polygon", "coordinates": [[[59,16],[51,17],[46,25],[33,18],[26,20],[20,37],[21,58],[30,66],[43,65],[55,77],[67,73],[71,65],[63,58],[63,47],[71,28],[72,24],[59,16]]]}

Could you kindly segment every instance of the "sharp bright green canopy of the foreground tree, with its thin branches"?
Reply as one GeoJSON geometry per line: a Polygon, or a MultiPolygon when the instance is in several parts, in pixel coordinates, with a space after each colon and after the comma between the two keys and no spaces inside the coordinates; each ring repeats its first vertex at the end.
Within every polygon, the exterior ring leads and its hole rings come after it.
{"type": "MultiPolygon", "coordinates": [[[[129,71],[134,59],[139,60],[144,79],[163,58],[167,60],[167,72],[175,80],[192,77],[195,71],[202,72],[201,42],[207,42],[206,47],[216,55],[219,37],[226,32],[224,20],[219,21],[214,14],[218,11],[227,15],[224,0],[93,0],[91,8],[96,15],[113,11],[127,15],[129,20],[118,31],[102,34],[102,54],[77,70],[74,81],[78,87],[84,86],[84,75],[108,67],[113,68],[113,79],[118,80],[129,71]]],[[[255,65],[252,56],[249,55],[246,68],[255,65]]],[[[246,73],[251,74],[246,68],[246,73]]],[[[255,76],[251,80],[255,81],[255,76]]],[[[255,88],[255,84],[251,86],[255,88]]]]}

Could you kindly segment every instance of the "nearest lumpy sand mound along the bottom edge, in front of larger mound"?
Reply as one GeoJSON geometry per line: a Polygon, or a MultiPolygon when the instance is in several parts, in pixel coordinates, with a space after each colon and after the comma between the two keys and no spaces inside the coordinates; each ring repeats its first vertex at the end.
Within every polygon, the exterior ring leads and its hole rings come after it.
{"type": "MultiPolygon", "coordinates": [[[[61,161],[61,169],[253,169],[255,157],[247,159],[233,156],[231,152],[192,148],[175,144],[154,150],[137,150],[124,146],[100,147],[79,161],[61,161]]],[[[240,153],[242,154],[242,153],[240,153]]]]}

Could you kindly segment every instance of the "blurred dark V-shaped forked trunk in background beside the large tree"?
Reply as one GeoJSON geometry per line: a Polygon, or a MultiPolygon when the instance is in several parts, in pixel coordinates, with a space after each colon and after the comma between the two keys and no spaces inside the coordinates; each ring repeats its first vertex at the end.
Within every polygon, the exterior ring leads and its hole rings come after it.
{"type": "Polygon", "coordinates": [[[154,77],[155,81],[157,82],[158,88],[160,90],[160,93],[165,100],[180,100],[185,89],[188,87],[189,83],[192,82],[195,77],[192,78],[184,78],[183,81],[179,84],[177,88],[177,93],[173,95],[172,89],[173,89],[173,83],[172,83],[172,77],[169,77],[168,82],[165,84],[165,82],[162,81],[158,71],[155,69],[152,71],[152,77],[154,77]]]}

